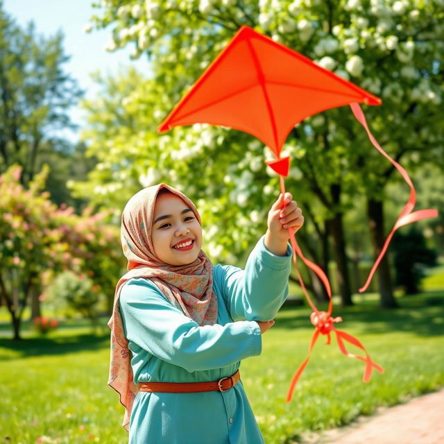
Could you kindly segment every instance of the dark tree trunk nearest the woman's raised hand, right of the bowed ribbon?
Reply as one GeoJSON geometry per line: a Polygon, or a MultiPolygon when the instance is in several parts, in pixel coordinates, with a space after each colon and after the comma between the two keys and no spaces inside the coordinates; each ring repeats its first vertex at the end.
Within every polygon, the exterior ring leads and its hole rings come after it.
{"type": "Polygon", "coordinates": [[[342,214],[336,213],[333,219],[328,221],[329,231],[333,239],[333,257],[337,267],[337,280],[341,305],[346,307],[353,305],[350,291],[350,273],[348,271],[347,255],[345,255],[345,241],[342,214]]]}

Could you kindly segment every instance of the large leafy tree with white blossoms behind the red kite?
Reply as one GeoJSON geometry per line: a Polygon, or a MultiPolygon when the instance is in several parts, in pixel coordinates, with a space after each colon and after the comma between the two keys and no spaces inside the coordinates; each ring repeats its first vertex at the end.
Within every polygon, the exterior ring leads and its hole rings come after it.
{"type": "MultiPolygon", "coordinates": [[[[419,165],[431,159],[442,151],[444,139],[439,124],[443,42],[438,37],[443,33],[443,11],[438,3],[350,0],[341,8],[319,0],[146,1],[145,8],[138,1],[102,3],[104,10],[94,23],[112,26],[108,49],[134,44],[134,57],[144,53],[151,57],[154,79],[123,99],[130,102],[133,115],[134,105],[144,104],[144,110],[150,110],[148,124],[138,135],[131,133],[126,164],[122,160],[128,146],[122,137],[128,128],[117,129],[119,137],[108,144],[120,163],[103,162],[101,177],[125,173],[139,176],[142,185],[159,180],[183,185],[192,198],[201,200],[205,223],[210,225],[212,257],[239,257],[251,244],[263,228],[264,210],[278,184],[262,167],[268,149],[247,135],[205,125],[158,136],[153,122],[153,117],[160,122],[241,24],[255,26],[382,96],[384,107],[366,111],[379,141],[398,161],[419,165]],[[142,89],[146,96],[140,95],[142,89]],[[216,228],[218,222],[224,231],[216,228]]],[[[121,105],[119,109],[126,108],[121,105]]],[[[343,214],[353,206],[356,194],[368,196],[368,216],[375,221],[373,244],[376,251],[380,249],[382,237],[377,233],[382,232],[384,189],[393,180],[394,169],[373,152],[350,110],[330,110],[306,119],[293,130],[284,151],[293,159],[288,188],[298,190],[317,226],[325,225],[339,269],[342,303],[350,305],[343,214]]],[[[109,199],[117,193],[107,180],[95,182],[96,186],[109,190],[105,192],[109,199]]],[[[382,264],[383,306],[395,305],[387,271],[388,264],[382,264]]]]}

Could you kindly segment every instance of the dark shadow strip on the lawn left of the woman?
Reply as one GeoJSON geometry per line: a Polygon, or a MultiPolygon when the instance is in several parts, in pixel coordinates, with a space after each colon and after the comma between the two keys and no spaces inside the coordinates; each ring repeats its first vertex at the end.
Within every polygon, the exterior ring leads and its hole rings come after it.
{"type": "MultiPolygon", "coordinates": [[[[21,341],[0,339],[0,348],[19,352],[20,357],[65,355],[65,353],[101,350],[109,346],[109,334],[100,336],[94,334],[79,334],[77,336],[59,336],[54,338],[27,338],[21,341]]],[[[1,359],[17,359],[17,355],[13,357],[1,357],[1,359]]]]}

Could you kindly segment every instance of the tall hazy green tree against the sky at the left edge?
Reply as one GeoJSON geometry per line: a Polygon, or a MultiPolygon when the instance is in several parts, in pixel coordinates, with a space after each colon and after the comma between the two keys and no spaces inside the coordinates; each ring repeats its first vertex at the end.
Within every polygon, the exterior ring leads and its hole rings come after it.
{"type": "Polygon", "coordinates": [[[67,111],[82,92],[63,69],[62,41],[37,35],[32,22],[23,30],[0,1],[0,173],[17,163],[24,184],[49,154],[72,151],[58,130],[74,128],[67,111]]]}

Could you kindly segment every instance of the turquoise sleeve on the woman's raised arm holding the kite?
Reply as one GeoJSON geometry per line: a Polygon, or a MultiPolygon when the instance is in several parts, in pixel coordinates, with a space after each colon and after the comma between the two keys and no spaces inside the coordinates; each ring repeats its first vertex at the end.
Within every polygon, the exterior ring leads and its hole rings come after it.
{"type": "Polygon", "coordinates": [[[269,321],[288,296],[291,247],[287,255],[267,250],[261,237],[250,253],[244,270],[234,266],[214,267],[214,279],[234,321],[269,321]]]}

